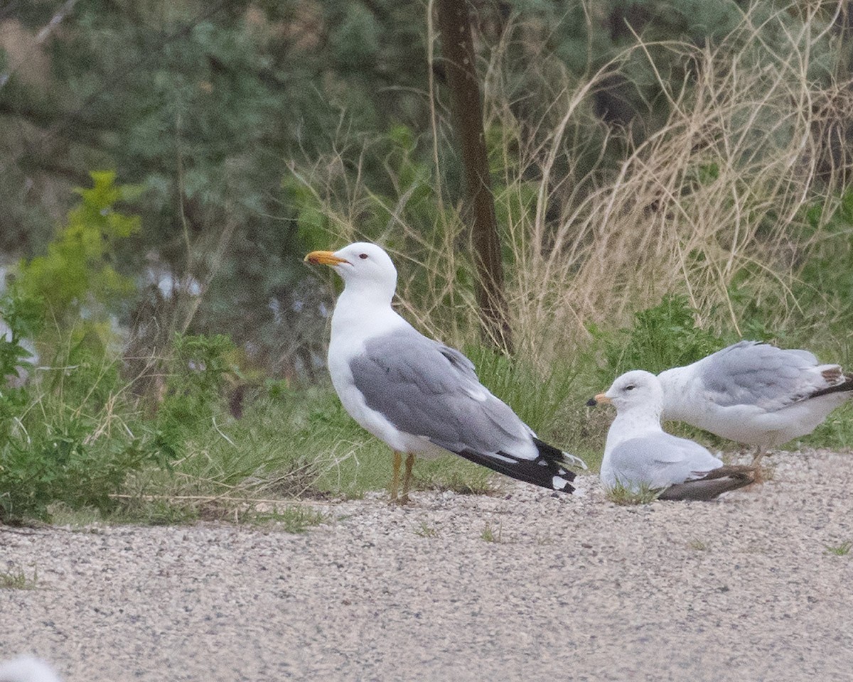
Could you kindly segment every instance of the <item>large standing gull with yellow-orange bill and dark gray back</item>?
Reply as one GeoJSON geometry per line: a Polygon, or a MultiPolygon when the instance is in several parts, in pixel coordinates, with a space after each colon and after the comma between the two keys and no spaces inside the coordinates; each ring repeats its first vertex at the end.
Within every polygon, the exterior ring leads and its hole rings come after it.
{"type": "Polygon", "coordinates": [[[344,280],[332,315],[328,371],[351,417],[394,452],[391,499],[405,504],[415,454],[448,451],[520,481],[571,493],[569,459],[540,441],[504,402],[479,383],[473,363],[423,336],[392,309],[397,269],[379,246],[358,242],[311,251],[344,280]],[[407,454],[403,494],[400,465],[407,454]]]}

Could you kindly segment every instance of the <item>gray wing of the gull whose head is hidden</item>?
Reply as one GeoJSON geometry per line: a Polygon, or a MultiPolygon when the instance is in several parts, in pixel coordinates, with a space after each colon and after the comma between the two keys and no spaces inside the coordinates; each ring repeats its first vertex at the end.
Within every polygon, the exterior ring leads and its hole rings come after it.
{"type": "Polygon", "coordinates": [[[755,405],[773,411],[821,388],[809,373],[816,365],[817,358],[808,350],[740,341],[701,361],[699,378],[717,405],[755,405]]]}

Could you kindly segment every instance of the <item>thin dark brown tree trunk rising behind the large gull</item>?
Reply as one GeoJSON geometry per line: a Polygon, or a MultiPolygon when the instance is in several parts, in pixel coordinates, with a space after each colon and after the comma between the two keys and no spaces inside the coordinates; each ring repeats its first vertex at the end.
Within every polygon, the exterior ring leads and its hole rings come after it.
{"type": "Polygon", "coordinates": [[[450,87],[450,108],[465,166],[467,199],[473,212],[471,244],[477,266],[477,303],[486,341],[512,352],[513,343],[503,293],[501,244],[497,234],[495,199],[491,194],[489,159],[485,149],[483,107],[467,0],[438,0],[444,72],[450,87]]]}

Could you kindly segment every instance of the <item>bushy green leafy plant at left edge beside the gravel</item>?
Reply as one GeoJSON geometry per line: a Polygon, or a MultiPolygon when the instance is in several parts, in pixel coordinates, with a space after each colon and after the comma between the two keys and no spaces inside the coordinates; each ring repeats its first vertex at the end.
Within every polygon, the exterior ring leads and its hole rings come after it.
{"type": "MultiPolygon", "coordinates": [[[[36,313],[44,309],[29,300],[14,292],[3,301],[11,330],[0,344],[6,373],[23,359],[20,338],[38,331],[36,313]]],[[[114,511],[131,473],[168,466],[171,453],[158,447],[150,428],[136,424],[124,400],[118,360],[107,359],[95,334],[78,339],[80,329],[65,332],[64,340],[55,336],[54,363],[26,384],[0,390],[3,523],[49,519],[56,502],[114,511]]]]}

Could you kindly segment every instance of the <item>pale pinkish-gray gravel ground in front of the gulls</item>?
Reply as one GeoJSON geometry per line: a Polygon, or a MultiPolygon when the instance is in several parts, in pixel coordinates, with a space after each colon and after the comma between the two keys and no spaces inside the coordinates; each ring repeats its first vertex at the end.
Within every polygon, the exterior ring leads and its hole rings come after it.
{"type": "Polygon", "coordinates": [[[6,529],[0,659],[122,680],[853,679],[853,455],[711,503],[379,495],[305,535],[6,529]],[[485,531],[498,541],[486,541],[485,531]]]}

